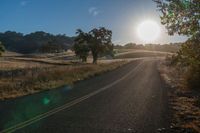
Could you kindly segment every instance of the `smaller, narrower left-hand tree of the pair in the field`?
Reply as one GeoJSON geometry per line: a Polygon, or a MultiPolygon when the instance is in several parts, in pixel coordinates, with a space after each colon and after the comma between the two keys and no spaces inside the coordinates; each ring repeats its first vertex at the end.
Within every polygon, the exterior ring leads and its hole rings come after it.
{"type": "Polygon", "coordinates": [[[87,57],[90,51],[87,44],[87,34],[80,29],[77,30],[76,34],[78,35],[74,40],[73,50],[75,51],[75,54],[82,60],[82,62],[87,62],[87,57]]]}

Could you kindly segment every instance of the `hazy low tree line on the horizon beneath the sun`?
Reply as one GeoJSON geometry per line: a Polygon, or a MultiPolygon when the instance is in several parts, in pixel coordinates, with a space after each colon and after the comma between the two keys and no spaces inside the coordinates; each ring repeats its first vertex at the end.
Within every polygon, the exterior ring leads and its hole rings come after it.
{"type": "Polygon", "coordinates": [[[136,44],[136,43],[127,43],[124,46],[115,45],[117,49],[142,49],[142,50],[151,50],[151,51],[163,51],[163,52],[172,52],[175,53],[181,48],[182,43],[170,43],[170,44],[136,44]]]}

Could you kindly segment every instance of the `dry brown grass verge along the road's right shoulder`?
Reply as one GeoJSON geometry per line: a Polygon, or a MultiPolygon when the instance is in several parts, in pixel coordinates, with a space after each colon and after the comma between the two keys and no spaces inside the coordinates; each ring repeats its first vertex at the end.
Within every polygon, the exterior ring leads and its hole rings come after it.
{"type": "Polygon", "coordinates": [[[200,133],[200,92],[185,87],[182,72],[175,67],[159,65],[161,77],[171,87],[169,92],[176,127],[200,133]]]}

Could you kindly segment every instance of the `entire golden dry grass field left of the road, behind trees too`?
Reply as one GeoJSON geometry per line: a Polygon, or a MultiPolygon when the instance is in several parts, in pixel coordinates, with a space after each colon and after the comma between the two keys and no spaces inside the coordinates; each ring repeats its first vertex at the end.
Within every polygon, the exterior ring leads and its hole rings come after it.
{"type": "Polygon", "coordinates": [[[100,58],[98,64],[81,63],[73,52],[23,55],[6,52],[0,57],[0,99],[15,98],[104,73],[133,58],[166,56],[164,52],[121,50],[115,59],[100,58]]]}

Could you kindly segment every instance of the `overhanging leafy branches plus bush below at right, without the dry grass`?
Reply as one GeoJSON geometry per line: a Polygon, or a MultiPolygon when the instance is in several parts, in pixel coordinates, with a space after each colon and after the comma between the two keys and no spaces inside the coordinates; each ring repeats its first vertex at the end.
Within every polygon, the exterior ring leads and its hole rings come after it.
{"type": "Polygon", "coordinates": [[[189,87],[200,84],[200,1],[199,0],[154,0],[161,11],[161,23],[169,35],[178,33],[189,39],[181,46],[173,63],[187,67],[186,81],[189,87]]]}

